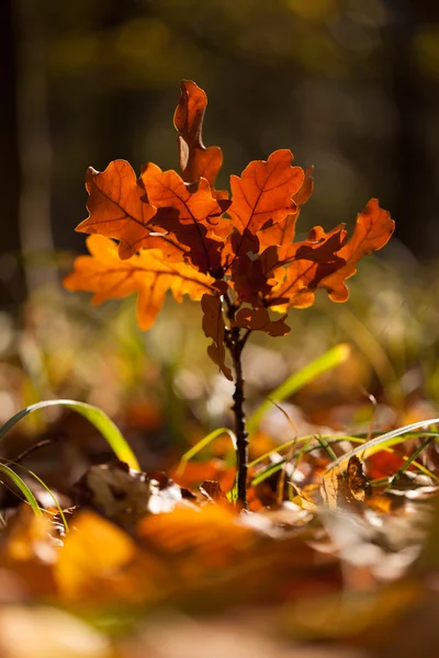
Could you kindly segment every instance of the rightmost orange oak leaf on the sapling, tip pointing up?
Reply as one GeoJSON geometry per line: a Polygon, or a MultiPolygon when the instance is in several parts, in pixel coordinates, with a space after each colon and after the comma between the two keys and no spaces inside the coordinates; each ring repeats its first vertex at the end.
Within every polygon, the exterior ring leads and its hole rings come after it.
{"type": "Polygon", "coordinates": [[[346,264],[322,282],[322,287],[328,291],[333,302],[347,300],[349,291],[345,281],[357,272],[357,262],[363,256],[384,247],[394,230],[395,223],[390,213],[380,208],[378,198],[371,198],[364,209],[358,214],[352,237],[337,254],[346,261],[346,264]]]}

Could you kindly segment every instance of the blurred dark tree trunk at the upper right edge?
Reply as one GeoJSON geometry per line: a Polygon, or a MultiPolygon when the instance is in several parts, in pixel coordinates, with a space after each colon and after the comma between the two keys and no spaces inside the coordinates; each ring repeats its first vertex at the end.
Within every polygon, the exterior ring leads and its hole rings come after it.
{"type": "Polygon", "coordinates": [[[439,5],[429,0],[386,0],[386,5],[392,16],[387,36],[398,121],[394,149],[398,185],[392,215],[396,219],[396,236],[416,257],[430,258],[439,252],[439,190],[427,112],[434,112],[435,105],[439,111],[439,94],[416,61],[415,35],[420,25],[439,18],[439,5]]]}

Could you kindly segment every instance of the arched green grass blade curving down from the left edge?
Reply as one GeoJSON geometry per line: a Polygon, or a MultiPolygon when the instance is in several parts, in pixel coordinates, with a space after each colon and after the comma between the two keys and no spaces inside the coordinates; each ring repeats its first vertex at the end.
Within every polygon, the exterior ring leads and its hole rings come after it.
{"type": "Polygon", "coordinates": [[[124,436],[114,424],[114,422],[98,407],[93,407],[93,405],[88,405],[86,402],[78,402],[76,400],[45,400],[44,402],[37,402],[36,405],[31,405],[22,409],[15,416],[12,416],[1,428],[0,428],[0,441],[1,439],[9,432],[11,428],[13,428],[20,420],[25,418],[29,413],[33,413],[34,411],[38,411],[40,409],[45,409],[47,407],[68,407],[69,409],[74,409],[77,411],[91,424],[95,427],[95,429],[102,434],[105,439],[110,447],[113,450],[114,454],[121,462],[126,462],[131,468],[135,470],[140,470],[140,466],[131,450],[130,445],[125,441],[124,436]]]}

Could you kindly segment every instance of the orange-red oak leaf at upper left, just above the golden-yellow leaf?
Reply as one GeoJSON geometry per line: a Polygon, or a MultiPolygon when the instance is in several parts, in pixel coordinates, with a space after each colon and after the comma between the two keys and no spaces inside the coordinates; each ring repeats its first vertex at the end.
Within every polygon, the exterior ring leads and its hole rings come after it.
{"type": "Polygon", "coordinates": [[[86,174],[89,216],[76,230],[98,234],[120,241],[119,256],[130,258],[140,247],[159,248],[168,257],[181,259],[182,249],[167,236],[156,235],[150,220],[156,208],[145,197],[140,179],[126,160],[110,162],[105,171],[89,167],[86,174]]]}

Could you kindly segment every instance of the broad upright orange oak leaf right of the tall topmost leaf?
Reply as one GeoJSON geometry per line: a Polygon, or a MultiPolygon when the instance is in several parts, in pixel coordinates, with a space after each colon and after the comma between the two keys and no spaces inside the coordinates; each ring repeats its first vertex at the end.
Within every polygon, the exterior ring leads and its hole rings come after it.
{"type": "Polygon", "coordinates": [[[293,154],[289,149],[280,149],[267,161],[250,162],[240,178],[230,177],[233,200],[228,214],[239,234],[233,247],[236,257],[248,251],[257,253],[259,240],[256,232],[296,213],[293,196],[301,189],[305,174],[301,167],[292,167],[292,161],[293,154]]]}

